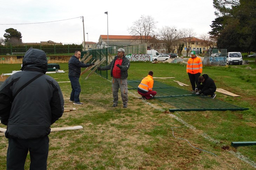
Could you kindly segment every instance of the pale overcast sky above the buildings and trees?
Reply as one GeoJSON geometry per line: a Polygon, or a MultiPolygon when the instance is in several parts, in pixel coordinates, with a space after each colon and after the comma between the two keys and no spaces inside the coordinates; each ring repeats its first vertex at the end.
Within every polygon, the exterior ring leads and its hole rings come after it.
{"type": "Polygon", "coordinates": [[[88,40],[98,42],[100,35],[107,35],[104,12],[108,12],[108,35],[129,35],[134,21],[151,15],[157,28],[193,28],[199,37],[211,31],[214,11],[213,0],[10,0],[0,5],[0,37],[14,28],[21,32],[23,43],[82,43],[83,16],[88,40]],[[27,24],[38,22],[48,23],[27,24]]]}

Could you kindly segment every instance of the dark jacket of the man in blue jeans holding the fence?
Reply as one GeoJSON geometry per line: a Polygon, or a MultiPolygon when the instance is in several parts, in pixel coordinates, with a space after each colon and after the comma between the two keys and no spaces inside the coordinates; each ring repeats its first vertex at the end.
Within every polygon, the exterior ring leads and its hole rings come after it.
{"type": "Polygon", "coordinates": [[[89,67],[92,64],[83,64],[78,58],[72,56],[68,61],[68,76],[80,77],[81,67],[89,67]]]}

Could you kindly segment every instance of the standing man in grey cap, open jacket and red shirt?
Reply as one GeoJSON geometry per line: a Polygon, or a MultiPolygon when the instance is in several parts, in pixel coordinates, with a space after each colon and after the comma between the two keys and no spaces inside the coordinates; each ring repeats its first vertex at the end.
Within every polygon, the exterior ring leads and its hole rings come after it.
{"type": "Polygon", "coordinates": [[[127,77],[130,61],[124,56],[124,49],[117,50],[117,56],[109,65],[98,67],[98,70],[110,70],[112,76],[112,92],[113,92],[113,107],[118,104],[118,91],[121,90],[121,97],[123,101],[123,108],[127,108],[128,103],[128,88],[127,77]]]}

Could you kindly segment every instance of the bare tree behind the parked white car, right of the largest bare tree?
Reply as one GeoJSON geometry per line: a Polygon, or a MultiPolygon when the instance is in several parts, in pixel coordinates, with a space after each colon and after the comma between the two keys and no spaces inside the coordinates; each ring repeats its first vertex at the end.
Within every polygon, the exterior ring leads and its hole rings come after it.
{"type": "Polygon", "coordinates": [[[160,39],[166,46],[167,53],[174,52],[175,41],[179,35],[179,31],[175,27],[165,26],[159,29],[160,39]]]}

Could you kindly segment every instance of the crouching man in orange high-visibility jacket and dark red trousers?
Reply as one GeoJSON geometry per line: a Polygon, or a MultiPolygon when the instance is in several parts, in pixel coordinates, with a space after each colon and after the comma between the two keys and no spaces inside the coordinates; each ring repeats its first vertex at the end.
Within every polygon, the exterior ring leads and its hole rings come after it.
{"type": "Polygon", "coordinates": [[[144,77],[141,83],[138,86],[138,93],[142,96],[143,99],[149,99],[156,95],[156,91],[153,91],[153,72],[148,72],[148,76],[144,77]]]}

